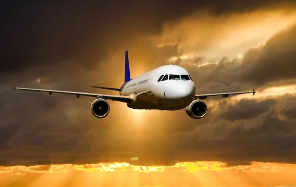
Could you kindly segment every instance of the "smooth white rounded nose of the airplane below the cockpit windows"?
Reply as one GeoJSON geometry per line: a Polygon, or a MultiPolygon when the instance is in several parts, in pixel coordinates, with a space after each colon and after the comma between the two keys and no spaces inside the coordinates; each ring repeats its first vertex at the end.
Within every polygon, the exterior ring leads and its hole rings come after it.
{"type": "Polygon", "coordinates": [[[191,97],[195,95],[195,84],[192,81],[184,81],[182,84],[176,84],[171,89],[171,96],[174,99],[191,97]]]}

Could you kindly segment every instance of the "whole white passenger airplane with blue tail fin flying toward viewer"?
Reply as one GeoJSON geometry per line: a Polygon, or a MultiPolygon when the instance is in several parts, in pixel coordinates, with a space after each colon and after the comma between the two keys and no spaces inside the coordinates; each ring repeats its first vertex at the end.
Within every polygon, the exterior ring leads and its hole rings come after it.
{"type": "Polygon", "coordinates": [[[131,79],[129,69],[128,51],[125,51],[125,72],[124,83],[117,88],[92,86],[93,88],[106,89],[119,92],[119,95],[68,92],[57,90],[41,90],[30,88],[16,88],[16,90],[66,93],[73,94],[76,97],[90,96],[96,97],[91,103],[91,112],[97,118],[105,118],[110,112],[109,100],[126,103],[127,107],[132,109],[146,110],[181,110],[185,108],[187,115],[193,119],[201,119],[208,112],[207,104],[202,101],[209,96],[228,97],[232,94],[245,94],[252,92],[234,92],[234,93],[210,93],[195,94],[195,83],[185,70],[177,65],[163,65],[153,69],[143,75],[131,79]]]}

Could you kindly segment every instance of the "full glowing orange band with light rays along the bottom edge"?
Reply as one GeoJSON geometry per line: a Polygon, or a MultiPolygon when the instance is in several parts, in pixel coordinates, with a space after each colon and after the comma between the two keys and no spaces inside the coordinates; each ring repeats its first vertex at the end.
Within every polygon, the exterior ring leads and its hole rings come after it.
{"type": "Polygon", "coordinates": [[[0,184],[28,187],[265,187],[291,186],[296,184],[295,175],[296,164],[262,162],[242,166],[205,161],[176,163],[173,166],[64,164],[2,166],[0,184]]]}

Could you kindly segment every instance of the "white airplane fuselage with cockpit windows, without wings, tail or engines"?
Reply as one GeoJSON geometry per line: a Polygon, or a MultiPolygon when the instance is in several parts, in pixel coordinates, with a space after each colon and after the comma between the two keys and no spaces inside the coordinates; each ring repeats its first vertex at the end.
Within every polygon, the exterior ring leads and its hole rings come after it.
{"type": "Polygon", "coordinates": [[[164,65],[124,83],[120,95],[131,96],[130,108],[180,110],[194,100],[195,84],[189,77],[180,66],[164,65]]]}

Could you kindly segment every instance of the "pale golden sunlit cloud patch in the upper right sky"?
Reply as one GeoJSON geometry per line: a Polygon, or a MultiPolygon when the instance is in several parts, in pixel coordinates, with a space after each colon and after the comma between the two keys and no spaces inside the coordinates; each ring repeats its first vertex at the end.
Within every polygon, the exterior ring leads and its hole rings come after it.
{"type": "Polygon", "coordinates": [[[281,10],[256,11],[229,16],[198,12],[177,23],[165,24],[162,34],[152,40],[158,47],[176,43],[185,53],[198,53],[207,58],[235,58],[252,46],[264,44],[295,21],[296,11],[289,14],[281,10]]]}

